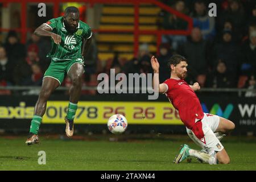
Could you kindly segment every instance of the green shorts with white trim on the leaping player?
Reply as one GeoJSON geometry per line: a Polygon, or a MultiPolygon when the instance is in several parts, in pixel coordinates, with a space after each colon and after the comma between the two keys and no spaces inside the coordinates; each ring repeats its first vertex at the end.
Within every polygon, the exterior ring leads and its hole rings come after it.
{"type": "Polygon", "coordinates": [[[84,65],[84,60],[80,58],[75,60],[52,60],[48,69],[46,70],[46,73],[44,73],[44,77],[55,78],[57,81],[59,81],[61,85],[64,80],[65,74],[67,73],[68,75],[69,69],[72,67],[73,64],[76,63],[84,65]]]}

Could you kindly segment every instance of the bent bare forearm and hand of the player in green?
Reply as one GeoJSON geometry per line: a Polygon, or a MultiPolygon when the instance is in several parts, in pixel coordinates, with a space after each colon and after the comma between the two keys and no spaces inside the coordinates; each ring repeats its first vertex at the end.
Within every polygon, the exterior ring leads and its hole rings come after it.
{"type": "Polygon", "coordinates": [[[60,35],[54,34],[51,32],[52,29],[48,27],[46,24],[40,25],[36,30],[34,31],[34,34],[37,36],[50,36],[55,44],[60,44],[61,37],[60,35]]]}

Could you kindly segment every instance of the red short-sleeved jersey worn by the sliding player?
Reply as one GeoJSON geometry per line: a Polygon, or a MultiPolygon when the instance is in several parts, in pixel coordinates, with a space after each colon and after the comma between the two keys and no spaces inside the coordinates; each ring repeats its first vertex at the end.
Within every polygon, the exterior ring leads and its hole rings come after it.
{"type": "Polygon", "coordinates": [[[204,112],[196,93],[184,80],[169,78],[164,81],[168,86],[166,96],[179,111],[180,119],[188,129],[203,119],[204,112]]]}

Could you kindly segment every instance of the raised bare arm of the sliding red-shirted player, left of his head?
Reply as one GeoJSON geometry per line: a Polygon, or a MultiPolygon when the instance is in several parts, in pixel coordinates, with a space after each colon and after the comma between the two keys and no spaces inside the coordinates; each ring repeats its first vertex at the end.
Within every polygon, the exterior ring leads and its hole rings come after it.
{"type": "Polygon", "coordinates": [[[152,88],[155,91],[158,91],[159,93],[166,93],[167,92],[166,84],[159,84],[159,63],[158,63],[158,59],[156,59],[155,56],[151,57],[151,66],[152,66],[152,69],[154,70],[152,88]],[[157,88],[155,89],[155,86],[158,86],[158,90],[157,88]]]}

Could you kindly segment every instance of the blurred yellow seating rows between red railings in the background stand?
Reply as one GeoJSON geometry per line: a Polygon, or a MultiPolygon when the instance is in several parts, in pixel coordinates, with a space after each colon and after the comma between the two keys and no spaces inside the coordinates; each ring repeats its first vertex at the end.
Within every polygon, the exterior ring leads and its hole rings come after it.
{"type": "MultiPolygon", "coordinates": [[[[160,8],[143,3],[139,7],[139,30],[157,30],[160,8]]],[[[134,7],[131,4],[105,4],[102,8],[100,30],[134,30],[134,7]]],[[[156,52],[156,36],[140,35],[139,43],[147,43],[150,52],[156,52]]],[[[102,61],[113,59],[114,52],[130,60],[134,57],[133,32],[101,33],[97,36],[98,57],[102,61]]]]}

